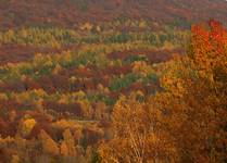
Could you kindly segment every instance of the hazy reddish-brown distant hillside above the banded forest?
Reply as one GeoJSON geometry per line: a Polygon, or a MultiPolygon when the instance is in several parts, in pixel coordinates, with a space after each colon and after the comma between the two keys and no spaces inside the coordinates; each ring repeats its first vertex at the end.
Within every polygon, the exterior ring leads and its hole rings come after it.
{"type": "Polygon", "coordinates": [[[0,27],[56,25],[76,27],[122,17],[157,23],[227,22],[224,0],[1,0],[0,27]]]}

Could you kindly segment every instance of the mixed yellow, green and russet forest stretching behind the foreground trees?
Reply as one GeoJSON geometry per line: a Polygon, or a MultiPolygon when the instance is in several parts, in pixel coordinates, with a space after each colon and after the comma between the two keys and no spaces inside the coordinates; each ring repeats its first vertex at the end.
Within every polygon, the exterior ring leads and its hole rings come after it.
{"type": "Polygon", "coordinates": [[[126,32],[91,24],[1,30],[2,159],[98,159],[98,145],[112,137],[119,97],[144,101],[162,91],[163,64],[184,55],[188,30],[152,32],[149,24],[135,22],[126,32]]]}

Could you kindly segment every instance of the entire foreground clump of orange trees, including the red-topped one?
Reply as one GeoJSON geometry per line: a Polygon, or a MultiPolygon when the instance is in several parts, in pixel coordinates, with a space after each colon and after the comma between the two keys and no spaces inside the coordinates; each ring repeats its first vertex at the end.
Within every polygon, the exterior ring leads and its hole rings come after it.
{"type": "Polygon", "coordinates": [[[139,103],[119,99],[103,162],[227,161],[227,30],[192,27],[188,55],[165,64],[164,91],[139,103]]]}

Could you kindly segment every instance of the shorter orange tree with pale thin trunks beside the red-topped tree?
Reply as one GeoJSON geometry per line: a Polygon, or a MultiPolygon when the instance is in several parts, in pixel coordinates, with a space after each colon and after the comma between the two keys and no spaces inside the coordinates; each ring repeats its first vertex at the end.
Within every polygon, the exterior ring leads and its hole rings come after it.
{"type": "Polygon", "coordinates": [[[140,103],[136,96],[122,97],[114,106],[114,137],[99,148],[103,162],[176,162],[177,150],[157,122],[153,101],[140,103]]]}

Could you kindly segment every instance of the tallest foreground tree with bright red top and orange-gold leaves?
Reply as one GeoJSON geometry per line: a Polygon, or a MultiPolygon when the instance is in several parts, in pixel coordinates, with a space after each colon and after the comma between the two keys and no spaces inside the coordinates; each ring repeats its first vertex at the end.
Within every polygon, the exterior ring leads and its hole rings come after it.
{"type": "Polygon", "coordinates": [[[171,114],[164,123],[178,140],[184,162],[227,159],[226,61],[227,32],[211,21],[209,27],[192,27],[188,57],[166,66],[166,98],[161,97],[159,103],[171,114]]]}

